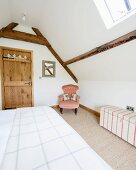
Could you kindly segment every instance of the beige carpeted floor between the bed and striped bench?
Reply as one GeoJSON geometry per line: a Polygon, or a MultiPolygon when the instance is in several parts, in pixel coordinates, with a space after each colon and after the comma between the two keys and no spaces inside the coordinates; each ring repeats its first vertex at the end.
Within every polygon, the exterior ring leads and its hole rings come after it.
{"type": "Polygon", "coordinates": [[[94,114],[79,108],[77,116],[72,110],[60,115],[113,169],[136,170],[136,148],[100,127],[94,114]]]}

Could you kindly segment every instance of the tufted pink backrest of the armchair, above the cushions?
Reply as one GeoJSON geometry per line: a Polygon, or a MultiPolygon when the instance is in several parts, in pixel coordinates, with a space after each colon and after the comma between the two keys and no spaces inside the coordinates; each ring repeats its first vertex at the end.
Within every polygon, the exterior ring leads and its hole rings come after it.
{"type": "Polygon", "coordinates": [[[62,90],[65,94],[68,94],[71,97],[72,94],[75,94],[77,92],[78,86],[73,84],[68,84],[62,86],[62,90]]]}

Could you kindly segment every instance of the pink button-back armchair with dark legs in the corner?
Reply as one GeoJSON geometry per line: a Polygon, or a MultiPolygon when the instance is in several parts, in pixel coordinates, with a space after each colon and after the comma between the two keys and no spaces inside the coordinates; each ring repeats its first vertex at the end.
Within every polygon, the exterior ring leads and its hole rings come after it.
{"type": "Polygon", "coordinates": [[[63,113],[63,109],[75,109],[75,114],[77,114],[80,97],[77,96],[76,100],[71,100],[71,97],[72,97],[72,94],[76,94],[78,90],[78,86],[69,84],[69,85],[63,86],[62,90],[64,94],[68,94],[69,99],[64,101],[63,95],[59,96],[60,112],[63,113]]]}

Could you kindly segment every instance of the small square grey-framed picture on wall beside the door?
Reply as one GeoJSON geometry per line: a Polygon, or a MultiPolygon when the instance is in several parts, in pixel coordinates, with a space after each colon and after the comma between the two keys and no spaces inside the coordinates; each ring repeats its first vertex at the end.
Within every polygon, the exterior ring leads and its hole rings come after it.
{"type": "Polygon", "coordinates": [[[56,63],[54,61],[42,61],[42,77],[55,77],[56,63]]]}

